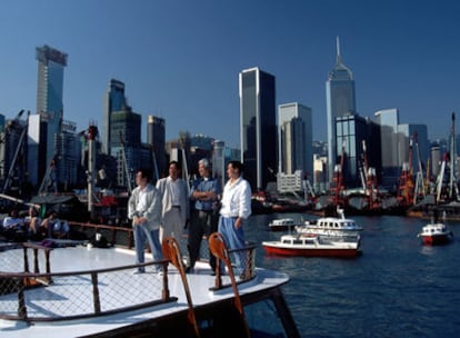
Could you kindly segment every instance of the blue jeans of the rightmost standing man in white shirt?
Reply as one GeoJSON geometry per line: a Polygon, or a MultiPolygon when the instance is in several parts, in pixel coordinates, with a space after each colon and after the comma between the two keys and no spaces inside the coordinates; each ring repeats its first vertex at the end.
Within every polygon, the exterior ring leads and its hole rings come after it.
{"type": "MultiPolygon", "coordinates": [[[[242,226],[234,228],[234,217],[220,217],[218,231],[222,235],[226,241],[227,249],[243,249],[246,248],[244,232],[242,226]]],[[[237,275],[241,275],[246,270],[246,250],[233,252],[237,275]]]]}

